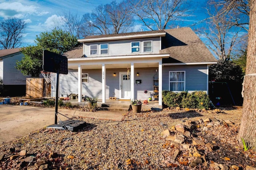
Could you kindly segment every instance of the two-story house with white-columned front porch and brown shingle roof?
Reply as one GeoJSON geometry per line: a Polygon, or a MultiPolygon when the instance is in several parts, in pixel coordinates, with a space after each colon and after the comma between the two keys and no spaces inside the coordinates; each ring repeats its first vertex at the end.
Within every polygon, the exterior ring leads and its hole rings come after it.
{"type": "Polygon", "coordinates": [[[68,74],[60,75],[64,92],[141,99],[162,105],[162,90],[208,92],[208,66],[217,63],[204,43],[184,27],[89,36],[64,56],[68,74]],[[147,90],[147,94],[144,91],[147,90]]]}

